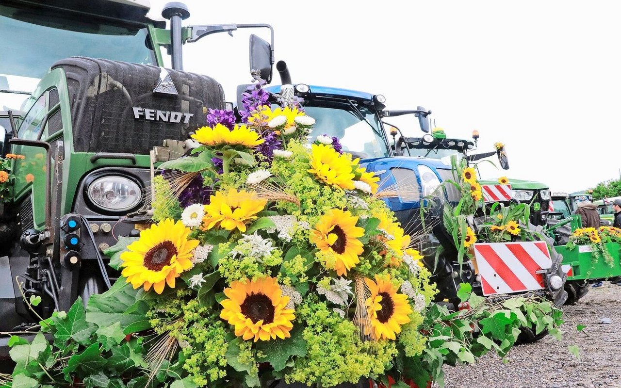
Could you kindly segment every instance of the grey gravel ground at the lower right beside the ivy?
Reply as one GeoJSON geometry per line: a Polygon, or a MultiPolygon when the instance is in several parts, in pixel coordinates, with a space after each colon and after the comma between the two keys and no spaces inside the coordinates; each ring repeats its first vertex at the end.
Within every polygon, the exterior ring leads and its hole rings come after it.
{"type": "Polygon", "coordinates": [[[604,282],[563,308],[563,340],[516,346],[509,363],[486,354],[477,364],[445,366],[446,388],[621,387],[621,287],[604,282]],[[610,318],[610,324],[599,323],[610,318]],[[586,325],[584,332],[576,324],[586,325]],[[567,350],[578,345],[580,359],[567,350]]]}

